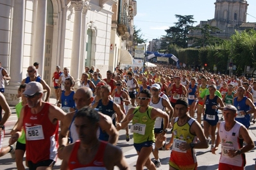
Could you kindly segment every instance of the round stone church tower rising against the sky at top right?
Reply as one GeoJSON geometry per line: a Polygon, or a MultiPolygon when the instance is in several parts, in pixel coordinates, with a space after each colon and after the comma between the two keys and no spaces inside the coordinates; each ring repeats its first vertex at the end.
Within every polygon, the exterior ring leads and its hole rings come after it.
{"type": "Polygon", "coordinates": [[[216,0],[214,19],[223,24],[241,25],[246,22],[248,3],[245,0],[216,0]]]}

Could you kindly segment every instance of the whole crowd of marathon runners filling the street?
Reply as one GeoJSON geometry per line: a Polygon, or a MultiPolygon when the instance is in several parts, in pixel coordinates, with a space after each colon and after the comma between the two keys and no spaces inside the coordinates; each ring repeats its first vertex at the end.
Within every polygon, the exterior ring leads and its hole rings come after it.
{"type": "MultiPolygon", "coordinates": [[[[38,66],[28,67],[17,89],[19,120],[8,146],[2,145],[4,123],[11,112],[3,95],[4,81],[0,84],[0,110],[4,111],[0,156],[11,153],[17,169],[25,169],[25,152],[30,169],[52,169],[57,157],[62,159],[61,169],[130,169],[116,146],[121,129],[126,130],[126,141],[133,138],[136,169],[160,167],[158,150],[171,150],[169,169],[196,169],[194,149],[200,148],[209,148],[213,154],[219,148],[219,169],[244,169],[244,153],[254,147],[248,133],[256,119],[252,78],[158,64],[145,70],[116,67],[107,73],[85,67],[80,82],[75,82],[68,68],[56,66],[52,77],[56,104],[51,105],[47,102],[51,88],[37,73],[38,66]]],[[[0,79],[11,79],[4,68],[0,79]]]]}

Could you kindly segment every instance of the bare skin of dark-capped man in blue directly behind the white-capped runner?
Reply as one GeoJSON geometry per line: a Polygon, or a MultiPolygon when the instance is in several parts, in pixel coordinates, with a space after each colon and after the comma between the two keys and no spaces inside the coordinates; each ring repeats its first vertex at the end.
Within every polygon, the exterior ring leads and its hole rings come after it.
{"type": "MultiPolygon", "coordinates": [[[[35,81],[37,79],[37,76],[35,75],[35,73],[37,72],[37,70],[35,69],[35,66],[29,66],[28,71],[31,71],[31,72],[28,72],[28,77],[30,77],[30,81],[35,81]]],[[[25,81],[26,81],[26,79],[23,79],[21,84],[24,84],[25,81]]],[[[43,88],[46,89],[46,91],[47,91],[46,100],[44,100],[44,102],[47,102],[47,101],[49,101],[49,97],[51,94],[51,88],[49,87],[48,84],[46,84],[46,82],[43,79],[41,79],[40,83],[42,84],[43,88]]]]}

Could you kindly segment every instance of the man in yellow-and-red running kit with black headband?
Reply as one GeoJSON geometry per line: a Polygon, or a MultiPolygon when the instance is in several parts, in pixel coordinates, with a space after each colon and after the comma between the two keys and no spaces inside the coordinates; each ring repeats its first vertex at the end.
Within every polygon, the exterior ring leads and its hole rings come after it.
{"type": "Polygon", "coordinates": [[[175,112],[178,115],[175,118],[173,126],[173,135],[166,144],[166,149],[173,146],[171,157],[169,159],[169,169],[197,169],[195,148],[208,148],[207,141],[203,135],[203,129],[198,121],[191,118],[187,98],[179,98],[175,104],[175,112]],[[196,139],[200,142],[196,143],[196,139]]]}

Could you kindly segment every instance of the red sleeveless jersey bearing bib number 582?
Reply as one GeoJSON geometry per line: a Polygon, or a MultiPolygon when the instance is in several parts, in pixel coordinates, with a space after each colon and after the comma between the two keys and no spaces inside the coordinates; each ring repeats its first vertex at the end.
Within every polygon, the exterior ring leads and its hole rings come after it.
{"type": "Polygon", "coordinates": [[[25,106],[23,127],[26,133],[26,159],[36,164],[43,160],[55,160],[58,148],[58,121],[53,125],[49,120],[49,105],[37,114],[25,106]]]}

